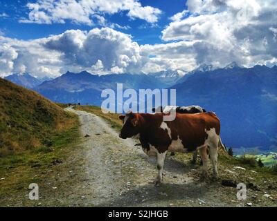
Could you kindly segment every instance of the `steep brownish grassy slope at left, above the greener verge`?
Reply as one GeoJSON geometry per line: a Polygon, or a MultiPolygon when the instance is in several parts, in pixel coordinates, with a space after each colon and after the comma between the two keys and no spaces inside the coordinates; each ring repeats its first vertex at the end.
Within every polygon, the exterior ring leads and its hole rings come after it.
{"type": "Polygon", "coordinates": [[[49,136],[73,122],[57,104],[0,78],[0,157],[49,146],[49,136]]]}

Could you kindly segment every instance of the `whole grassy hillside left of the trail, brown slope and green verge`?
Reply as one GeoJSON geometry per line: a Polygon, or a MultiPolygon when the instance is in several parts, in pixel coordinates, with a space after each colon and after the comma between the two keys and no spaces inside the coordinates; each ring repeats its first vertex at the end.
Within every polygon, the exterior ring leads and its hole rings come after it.
{"type": "Polygon", "coordinates": [[[60,173],[59,165],[78,151],[79,126],[77,115],[0,78],[1,206],[30,203],[30,183],[46,189],[49,173],[60,173]]]}

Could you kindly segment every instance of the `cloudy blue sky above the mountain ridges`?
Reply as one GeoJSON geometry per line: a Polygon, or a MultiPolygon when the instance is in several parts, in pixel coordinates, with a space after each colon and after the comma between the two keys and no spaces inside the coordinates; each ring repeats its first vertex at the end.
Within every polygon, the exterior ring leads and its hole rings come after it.
{"type": "Polygon", "coordinates": [[[1,0],[0,76],[277,64],[276,0],[1,0]]]}

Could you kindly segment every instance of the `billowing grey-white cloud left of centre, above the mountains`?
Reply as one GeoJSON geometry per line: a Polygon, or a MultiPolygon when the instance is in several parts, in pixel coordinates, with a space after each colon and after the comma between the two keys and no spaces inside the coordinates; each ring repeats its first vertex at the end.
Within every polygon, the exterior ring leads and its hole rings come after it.
{"type": "Polygon", "coordinates": [[[74,64],[89,70],[101,62],[103,70],[116,73],[132,73],[141,66],[139,44],[129,35],[111,28],[93,28],[89,32],[68,30],[49,37],[44,46],[61,52],[67,66],[74,64]]]}

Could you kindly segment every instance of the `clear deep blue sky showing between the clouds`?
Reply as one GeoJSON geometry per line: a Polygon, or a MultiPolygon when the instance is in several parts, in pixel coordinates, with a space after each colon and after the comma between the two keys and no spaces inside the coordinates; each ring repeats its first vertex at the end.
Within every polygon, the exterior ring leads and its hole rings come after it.
{"type": "MultiPolygon", "coordinates": [[[[28,40],[58,35],[70,29],[91,30],[91,28],[100,27],[97,24],[94,26],[84,23],[75,24],[71,20],[67,20],[66,23],[52,23],[51,25],[19,23],[20,19],[28,18],[30,10],[26,7],[27,3],[35,2],[34,0],[0,1],[0,15],[3,15],[3,13],[6,15],[0,17],[0,30],[6,37],[28,40]]],[[[159,8],[162,11],[161,15],[159,15],[159,21],[152,24],[143,19],[132,20],[126,16],[127,12],[124,11],[114,15],[105,15],[110,22],[118,23],[120,26],[129,26],[130,28],[127,30],[115,29],[132,35],[134,41],[137,41],[139,44],[161,43],[161,31],[170,23],[169,18],[187,8],[186,1],[184,0],[144,0],[140,2],[142,6],[159,8]]]]}

